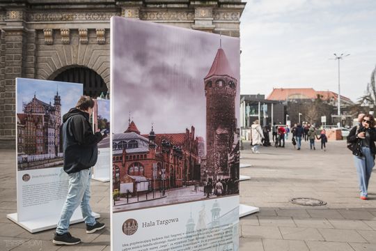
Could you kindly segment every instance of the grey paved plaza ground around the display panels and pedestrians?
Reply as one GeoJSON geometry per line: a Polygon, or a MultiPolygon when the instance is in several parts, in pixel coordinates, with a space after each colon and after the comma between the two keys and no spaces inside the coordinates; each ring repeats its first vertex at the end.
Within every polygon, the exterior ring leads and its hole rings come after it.
{"type": "MultiPolygon", "coordinates": [[[[244,142],[240,170],[252,176],[240,185],[240,202],[258,206],[259,213],[240,220],[240,250],[358,251],[376,250],[376,176],[370,179],[368,201],[359,199],[357,173],[345,142],[329,142],[327,151],[310,151],[303,142],[296,151],[261,147],[251,153],[244,142]],[[292,197],[313,197],[325,206],[291,204],[292,197]]],[[[84,223],[70,231],[84,243],[52,245],[54,230],[30,234],[6,219],[15,213],[15,152],[0,151],[0,250],[110,250],[109,183],[92,181],[91,206],[107,227],[88,235],[84,223]]],[[[375,169],[376,170],[376,169],[375,169]]]]}

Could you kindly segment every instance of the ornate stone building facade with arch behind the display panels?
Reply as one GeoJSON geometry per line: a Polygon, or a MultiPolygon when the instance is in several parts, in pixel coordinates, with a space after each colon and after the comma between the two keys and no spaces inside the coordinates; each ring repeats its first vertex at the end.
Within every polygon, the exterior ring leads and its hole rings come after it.
{"type": "Polygon", "coordinates": [[[15,77],[109,89],[113,15],[240,36],[241,0],[0,1],[0,147],[15,146],[15,77]],[[92,83],[95,83],[91,85],[92,83]]]}

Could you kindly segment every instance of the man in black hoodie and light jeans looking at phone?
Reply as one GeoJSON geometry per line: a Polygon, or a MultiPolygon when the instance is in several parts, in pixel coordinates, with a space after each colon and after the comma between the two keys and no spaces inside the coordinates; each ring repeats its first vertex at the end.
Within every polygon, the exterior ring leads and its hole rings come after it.
{"type": "Polygon", "coordinates": [[[53,239],[56,245],[75,245],[81,242],[68,232],[70,218],[79,205],[86,223],[86,233],[91,234],[104,228],[104,224],[93,217],[89,204],[91,167],[97,162],[97,144],[106,136],[104,132],[93,133],[90,123],[93,107],[92,98],[81,96],[76,107],[63,116],[61,135],[64,171],[69,176],[69,188],[53,239]]]}

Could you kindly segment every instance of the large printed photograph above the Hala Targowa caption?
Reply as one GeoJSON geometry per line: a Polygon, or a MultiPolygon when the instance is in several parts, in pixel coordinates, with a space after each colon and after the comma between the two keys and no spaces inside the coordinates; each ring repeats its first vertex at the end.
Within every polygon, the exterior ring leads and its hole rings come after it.
{"type": "Polygon", "coordinates": [[[112,25],[113,212],[238,195],[239,39],[112,25]]]}

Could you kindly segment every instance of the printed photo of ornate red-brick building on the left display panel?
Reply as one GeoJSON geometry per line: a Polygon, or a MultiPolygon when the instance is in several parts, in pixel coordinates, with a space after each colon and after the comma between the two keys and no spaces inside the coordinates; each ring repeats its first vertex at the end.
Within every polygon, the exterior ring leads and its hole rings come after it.
{"type": "Polygon", "coordinates": [[[82,93],[82,84],[16,79],[17,169],[63,165],[62,116],[82,93]]]}

